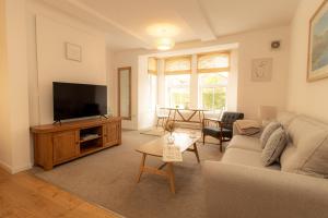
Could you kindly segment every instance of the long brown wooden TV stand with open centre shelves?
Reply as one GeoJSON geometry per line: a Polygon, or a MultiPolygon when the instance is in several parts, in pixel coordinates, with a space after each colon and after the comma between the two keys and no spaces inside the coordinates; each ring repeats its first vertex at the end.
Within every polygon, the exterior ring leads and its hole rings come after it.
{"type": "Polygon", "coordinates": [[[121,144],[121,118],[102,118],[32,126],[34,164],[45,170],[121,144]]]}

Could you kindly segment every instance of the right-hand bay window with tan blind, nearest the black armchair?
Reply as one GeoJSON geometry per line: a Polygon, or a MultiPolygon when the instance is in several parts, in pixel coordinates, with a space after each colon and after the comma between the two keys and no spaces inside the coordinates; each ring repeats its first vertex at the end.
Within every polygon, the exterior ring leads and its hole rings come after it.
{"type": "Polygon", "coordinates": [[[209,110],[224,108],[230,71],[229,53],[199,55],[197,66],[199,107],[209,110]]]}

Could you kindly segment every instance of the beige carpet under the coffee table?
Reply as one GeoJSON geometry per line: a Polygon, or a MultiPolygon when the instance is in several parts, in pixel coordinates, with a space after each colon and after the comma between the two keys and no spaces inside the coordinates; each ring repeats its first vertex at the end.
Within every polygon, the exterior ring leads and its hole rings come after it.
{"type": "MultiPolygon", "coordinates": [[[[138,145],[157,138],[137,131],[124,131],[122,144],[78,160],[56,167],[50,171],[34,168],[32,172],[80,197],[131,218],[202,218],[204,187],[201,166],[192,153],[184,154],[184,161],[175,165],[176,194],[169,192],[165,178],[143,174],[136,183],[141,154],[138,145]]],[[[220,160],[222,154],[214,144],[199,144],[203,160],[220,160]]],[[[151,157],[148,165],[157,166],[159,158],[151,157]]]]}

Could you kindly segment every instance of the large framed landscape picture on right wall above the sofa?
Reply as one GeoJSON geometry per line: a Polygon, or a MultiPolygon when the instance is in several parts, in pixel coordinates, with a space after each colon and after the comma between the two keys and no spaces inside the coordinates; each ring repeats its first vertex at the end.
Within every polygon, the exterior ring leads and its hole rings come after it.
{"type": "Polygon", "coordinates": [[[328,77],[328,1],[309,23],[307,82],[328,77]]]}

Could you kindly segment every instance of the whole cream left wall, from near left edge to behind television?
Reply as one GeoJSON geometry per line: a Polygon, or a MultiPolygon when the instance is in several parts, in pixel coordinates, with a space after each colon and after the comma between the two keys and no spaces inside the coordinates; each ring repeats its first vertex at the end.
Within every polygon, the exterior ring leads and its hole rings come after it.
{"type": "Polygon", "coordinates": [[[110,62],[102,33],[34,0],[0,0],[0,166],[15,173],[33,164],[30,126],[52,122],[51,82],[106,84],[110,62]]]}

